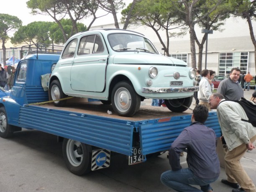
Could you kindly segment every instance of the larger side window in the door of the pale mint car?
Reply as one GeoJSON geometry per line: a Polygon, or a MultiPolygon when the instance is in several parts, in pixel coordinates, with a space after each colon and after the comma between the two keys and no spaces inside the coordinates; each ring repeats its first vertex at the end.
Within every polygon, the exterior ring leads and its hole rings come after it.
{"type": "Polygon", "coordinates": [[[81,38],[77,55],[101,53],[104,46],[98,35],[89,35],[81,38]]]}

